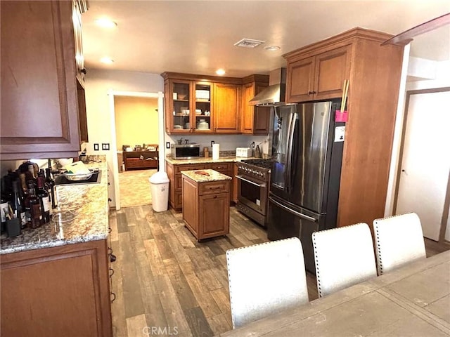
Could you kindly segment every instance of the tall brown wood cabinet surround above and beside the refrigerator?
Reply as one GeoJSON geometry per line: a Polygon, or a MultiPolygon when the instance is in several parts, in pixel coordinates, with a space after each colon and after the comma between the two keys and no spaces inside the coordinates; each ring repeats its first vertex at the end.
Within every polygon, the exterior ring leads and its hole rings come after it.
{"type": "Polygon", "coordinates": [[[288,103],[340,98],[349,80],[338,226],[384,216],[404,49],[390,37],[354,28],[283,55],[288,103]]]}

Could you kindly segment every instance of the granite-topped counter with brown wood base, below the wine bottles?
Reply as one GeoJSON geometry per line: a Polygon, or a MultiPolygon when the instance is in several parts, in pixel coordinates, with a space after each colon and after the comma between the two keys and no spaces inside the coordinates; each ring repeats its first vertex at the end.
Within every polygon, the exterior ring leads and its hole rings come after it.
{"type": "Polygon", "coordinates": [[[50,223],[1,238],[2,336],[112,336],[108,171],[96,184],[58,185],[50,223]]]}

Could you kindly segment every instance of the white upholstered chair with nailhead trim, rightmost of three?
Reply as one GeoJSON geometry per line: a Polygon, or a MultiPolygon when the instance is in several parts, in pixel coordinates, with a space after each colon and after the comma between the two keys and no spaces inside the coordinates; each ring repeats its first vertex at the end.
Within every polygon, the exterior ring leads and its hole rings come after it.
{"type": "Polygon", "coordinates": [[[373,220],[378,275],[426,258],[422,225],[416,213],[373,220]]]}

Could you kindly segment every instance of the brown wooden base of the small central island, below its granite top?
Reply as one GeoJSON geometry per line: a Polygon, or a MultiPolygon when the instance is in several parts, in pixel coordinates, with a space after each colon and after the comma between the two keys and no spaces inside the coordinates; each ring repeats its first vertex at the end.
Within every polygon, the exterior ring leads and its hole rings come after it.
{"type": "Polygon", "coordinates": [[[197,183],[182,176],[183,219],[196,239],[229,233],[230,180],[197,183]]]}

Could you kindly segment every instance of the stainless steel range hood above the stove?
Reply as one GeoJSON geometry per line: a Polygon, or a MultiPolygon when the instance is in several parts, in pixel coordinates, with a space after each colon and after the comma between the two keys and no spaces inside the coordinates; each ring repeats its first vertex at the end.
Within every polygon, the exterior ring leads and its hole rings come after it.
{"type": "Polygon", "coordinates": [[[249,102],[257,106],[284,105],[286,93],[286,68],[278,68],[269,73],[269,86],[249,102]]]}

